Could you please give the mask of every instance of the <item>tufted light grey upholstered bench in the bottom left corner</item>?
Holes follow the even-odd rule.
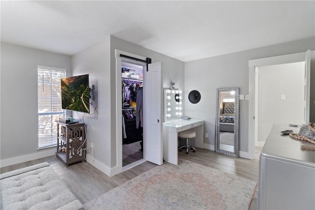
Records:
[[[47,162],[0,175],[1,210],[83,210]]]

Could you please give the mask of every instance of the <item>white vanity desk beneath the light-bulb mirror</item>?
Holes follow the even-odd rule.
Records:
[[[174,165],[178,164],[178,133],[184,130],[195,131],[194,147],[203,149],[203,124],[203,120],[199,119],[163,122],[163,158],[165,161]]]

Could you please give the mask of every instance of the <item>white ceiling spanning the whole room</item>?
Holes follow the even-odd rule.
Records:
[[[65,55],[108,34],[182,61],[315,37],[315,0],[1,0],[0,7],[1,41]]]

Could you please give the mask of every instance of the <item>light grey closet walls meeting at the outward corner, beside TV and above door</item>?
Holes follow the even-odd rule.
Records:
[[[149,57],[152,62],[163,65],[163,87],[169,88],[170,81],[184,90],[184,62],[146,48],[134,45],[114,36],[106,36],[91,47],[72,57],[73,75],[89,74],[91,85],[95,85],[97,113],[87,115],[87,142],[94,144],[95,160],[88,160],[107,175],[117,166],[116,139],[116,59],[115,49],[135,55]]]

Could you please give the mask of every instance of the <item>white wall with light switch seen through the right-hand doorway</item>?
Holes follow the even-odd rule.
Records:
[[[258,67],[258,141],[275,123],[304,123],[305,62]],[[281,100],[285,95],[285,100]]]

